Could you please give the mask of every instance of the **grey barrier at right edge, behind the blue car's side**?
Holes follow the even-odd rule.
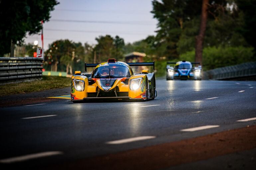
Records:
[[[211,80],[256,80],[256,62],[209,70],[203,76]]]

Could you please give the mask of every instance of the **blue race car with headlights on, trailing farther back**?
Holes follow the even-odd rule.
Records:
[[[201,69],[202,67],[199,65],[198,67],[192,67],[192,64],[200,64],[200,63],[191,63],[189,61],[179,61],[175,62],[167,62],[167,64],[175,64],[174,67],[167,65],[166,67],[166,80],[174,80],[174,79],[193,79],[193,80],[201,80]]]

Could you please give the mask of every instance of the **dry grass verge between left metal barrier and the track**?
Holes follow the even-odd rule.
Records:
[[[34,91],[65,88],[71,84],[71,78],[59,76],[42,76],[43,80],[23,82],[16,84],[0,85],[0,96],[10,94],[29,93]]]

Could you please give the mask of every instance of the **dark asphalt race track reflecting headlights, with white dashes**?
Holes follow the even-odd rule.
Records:
[[[60,99],[0,108],[0,167],[47,168],[256,125],[256,119],[238,121],[256,117],[256,82],[156,83],[158,96],[147,102],[72,103]],[[201,128],[191,129],[195,127]]]

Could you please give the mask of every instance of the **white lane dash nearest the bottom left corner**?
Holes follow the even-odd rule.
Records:
[[[23,156],[17,156],[7,159],[1,159],[0,163],[13,163],[13,162],[21,162],[29,159],[35,159],[45,156],[52,156],[52,155],[60,155],[63,154],[63,152],[60,151],[49,151],[49,152],[41,152],[41,153],[34,153],[34,154],[28,154]]]

